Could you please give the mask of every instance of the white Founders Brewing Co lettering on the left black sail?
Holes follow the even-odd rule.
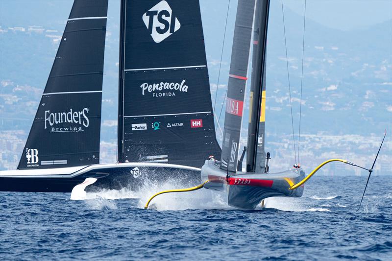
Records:
[[[87,114],[88,108],[81,111],[68,112],[50,112],[45,111],[45,129],[49,128],[50,132],[79,132],[83,131],[83,127],[90,124]],[[58,125],[60,124],[60,125]]]

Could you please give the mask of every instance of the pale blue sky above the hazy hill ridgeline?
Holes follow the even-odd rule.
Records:
[[[0,21],[18,20],[24,23],[27,19],[30,21],[33,19],[37,24],[43,24],[41,21],[62,13],[63,8],[68,13],[67,6],[70,2],[72,0],[0,0]],[[109,2],[112,2],[109,6],[119,5],[119,0],[109,0]],[[227,0],[200,0],[200,2],[201,6],[224,9]],[[236,4],[236,0],[231,2],[233,6]],[[304,2],[304,0],[283,0],[285,8],[299,15],[303,15]],[[271,0],[271,4],[280,4],[280,0]],[[392,0],[307,0],[306,15],[331,28],[360,29],[392,19]]]

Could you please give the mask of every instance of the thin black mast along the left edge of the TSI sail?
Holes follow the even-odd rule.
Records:
[[[119,51],[119,110],[117,120],[117,162],[123,158],[123,89],[124,89],[124,46],[125,46],[125,0],[120,5],[120,51]]]

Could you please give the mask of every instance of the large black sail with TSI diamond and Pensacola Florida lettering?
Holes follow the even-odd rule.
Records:
[[[122,17],[118,161],[220,157],[198,0],[124,0]]]

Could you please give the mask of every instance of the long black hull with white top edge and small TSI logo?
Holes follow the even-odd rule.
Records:
[[[71,192],[73,187],[84,182],[86,178],[98,180],[88,186],[86,192],[99,190],[121,190],[127,188],[138,190],[146,182],[159,184],[172,181],[176,184],[195,186],[200,184],[200,171],[178,167],[135,166],[95,168],[71,177],[4,177],[0,176],[0,191],[18,192]]]

